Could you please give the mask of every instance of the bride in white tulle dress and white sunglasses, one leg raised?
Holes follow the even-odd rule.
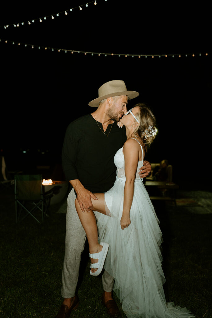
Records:
[[[95,194],[97,201],[92,199],[93,210],[102,213],[97,223],[100,244],[94,213],[82,212],[75,201],[88,238],[90,273],[96,276],[101,272],[109,243],[104,268],[115,278],[113,290],[127,317],[194,317],[186,308],[166,304],[162,287],[162,233],[138,174],[147,145],[155,136],[155,117],[149,108],[139,104],[120,121],[126,127],[127,141],[114,156],[117,179],[108,192]]]

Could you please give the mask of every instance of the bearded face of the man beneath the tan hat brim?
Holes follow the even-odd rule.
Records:
[[[121,95],[118,100],[113,101],[113,105],[107,110],[107,115],[118,122],[127,111],[127,95]]]

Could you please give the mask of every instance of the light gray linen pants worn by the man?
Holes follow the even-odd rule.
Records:
[[[74,297],[78,276],[81,253],[85,247],[86,234],[75,209],[76,195],[71,190],[67,199],[65,257],[62,272],[61,295],[63,298]],[[95,211],[98,219],[99,212]],[[113,290],[114,279],[106,271],[102,275],[102,285],[106,292]]]

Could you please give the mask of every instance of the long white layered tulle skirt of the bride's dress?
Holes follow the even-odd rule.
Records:
[[[141,180],[135,180],[131,224],[121,230],[125,180],[105,193],[110,215],[98,219],[99,241],[109,243],[104,268],[114,277],[114,292],[128,318],[194,317],[186,308],[166,303],[161,267],[162,233]]]

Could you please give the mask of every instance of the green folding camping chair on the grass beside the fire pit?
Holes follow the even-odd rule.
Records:
[[[23,210],[26,213],[20,222],[31,215],[40,223],[34,215],[36,211],[41,211],[43,222],[50,199],[51,194],[43,195],[42,175],[15,175],[16,223],[19,221]]]

